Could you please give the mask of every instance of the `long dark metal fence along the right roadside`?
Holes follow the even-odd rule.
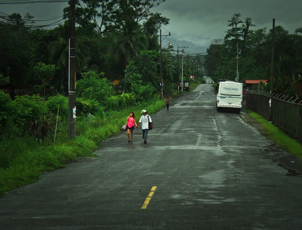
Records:
[[[246,94],[246,107],[270,119],[276,126],[302,140],[301,100],[273,94],[270,107],[270,92],[250,90]],[[271,114],[270,114],[271,112]]]

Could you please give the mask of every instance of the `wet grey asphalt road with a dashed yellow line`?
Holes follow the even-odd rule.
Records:
[[[151,114],[147,144],[141,129],[133,144],[122,132],[98,158],[6,193],[0,229],[300,230],[302,178],[244,115],[217,112],[211,84],[200,85]]]

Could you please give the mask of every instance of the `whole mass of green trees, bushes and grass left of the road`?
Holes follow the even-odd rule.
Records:
[[[150,12],[162,2],[76,2],[75,75],[69,73],[68,20],[43,30],[28,27],[34,23],[29,14],[0,19],[0,85],[35,88],[0,91],[0,193],[91,153],[120,131],[129,110],[153,113],[163,107],[161,80],[163,93],[175,95],[179,65],[172,48],[161,56],[157,35],[169,19]],[[69,9],[64,12],[68,18]],[[193,73],[193,65],[187,67],[186,74]],[[70,77],[76,78],[74,139],[67,130]],[[114,86],[114,80],[120,84]]]

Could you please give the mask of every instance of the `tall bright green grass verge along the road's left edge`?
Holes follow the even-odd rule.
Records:
[[[109,136],[120,132],[130,111],[139,119],[141,111],[149,114],[165,106],[164,100],[153,99],[120,111],[108,111],[95,117],[79,117],[76,137],[69,139],[66,125],[43,142],[33,136],[3,136],[0,141],[0,195],[18,186],[36,181],[44,171],[62,168],[75,158],[87,157]],[[66,123],[67,124],[67,123]]]

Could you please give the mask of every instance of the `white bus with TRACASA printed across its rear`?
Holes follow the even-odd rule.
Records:
[[[240,113],[243,101],[243,85],[235,81],[219,81],[217,85],[217,111],[233,109]]]

